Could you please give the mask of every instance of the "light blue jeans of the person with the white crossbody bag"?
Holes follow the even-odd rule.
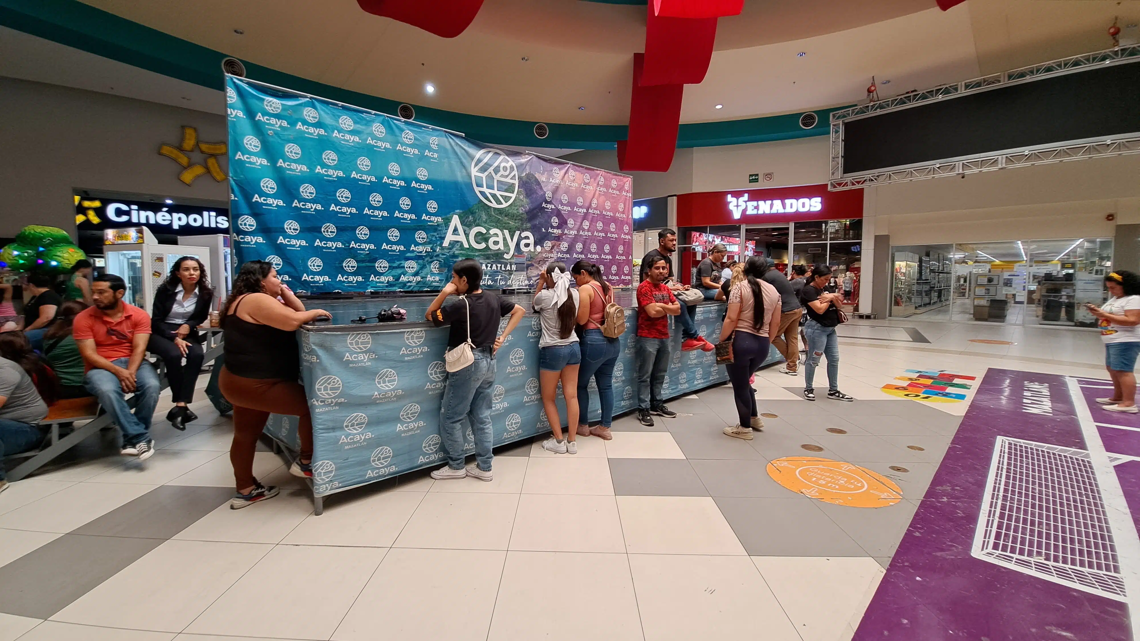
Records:
[[[491,348],[472,350],[475,362],[458,372],[447,373],[443,388],[443,407],[440,412],[439,436],[442,437],[447,466],[463,469],[463,420],[471,421],[471,433],[475,437],[475,462],[479,469],[491,469],[491,386],[495,384],[495,357]]]

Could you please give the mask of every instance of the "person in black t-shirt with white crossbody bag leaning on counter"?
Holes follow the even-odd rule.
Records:
[[[482,281],[483,268],[478,260],[465,258],[457,261],[451,267],[451,282],[435,297],[425,314],[437,326],[450,325],[448,356],[467,341],[471,342],[473,356],[472,363],[465,367],[454,372],[448,367],[439,424],[441,454],[447,459],[447,465],[431,473],[437,480],[465,477],[492,480],[491,444],[495,435],[491,430],[491,388],[495,386],[495,354],[503,347],[507,334],[522,320],[526,310],[494,292],[483,291],[480,287]],[[459,294],[462,298],[443,305],[451,294]],[[507,315],[511,319],[499,334],[499,318]],[[464,468],[466,419],[470,419],[475,438],[475,463]]]

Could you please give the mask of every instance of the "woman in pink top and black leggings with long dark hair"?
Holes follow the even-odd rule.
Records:
[[[768,356],[768,336],[780,327],[780,293],[760,279],[766,265],[762,255],[748,259],[746,278],[728,292],[728,310],[720,330],[720,341],[732,336],[733,362],[727,368],[740,417],[724,433],[744,440],[752,440],[752,430],[764,428],[756,411],[756,390],[748,381]]]

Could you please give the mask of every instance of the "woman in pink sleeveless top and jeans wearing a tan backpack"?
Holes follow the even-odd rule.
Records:
[[[618,339],[602,335],[602,316],[605,306],[613,302],[613,291],[602,279],[602,268],[588,260],[579,260],[570,268],[578,284],[578,325],[583,328],[581,365],[578,367],[578,436],[594,435],[610,440],[613,424],[613,365],[618,362]],[[597,382],[597,398],[602,405],[602,423],[589,427],[589,378]]]

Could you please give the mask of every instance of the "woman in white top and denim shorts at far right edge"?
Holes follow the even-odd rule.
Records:
[[[1105,276],[1112,298],[1104,306],[1085,303],[1098,319],[1100,340],[1105,341],[1105,366],[1113,378],[1113,396],[1097,403],[1109,412],[1135,414],[1137,378],[1133,374],[1140,354],[1140,276],[1132,271],[1113,271]]]

